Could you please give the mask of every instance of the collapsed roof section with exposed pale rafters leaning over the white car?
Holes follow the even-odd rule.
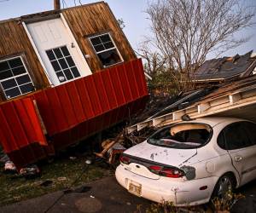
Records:
[[[181,104],[181,103],[180,103]],[[256,76],[241,78],[224,83],[212,93],[201,97],[181,110],[174,110],[158,117],[148,118],[143,122],[127,128],[130,134],[147,127],[160,127],[174,124],[186,118],[202,118],[207,116],[225,116],[245,118],[256,122]]]

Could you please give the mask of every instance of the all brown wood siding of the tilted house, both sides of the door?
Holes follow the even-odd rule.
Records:
[[[30,23],[31,21],[51,19],[55,18],[56,15],[60,17],[60,13],[63,14],[67,21],[67,25],[70,27],[71,32],[73,32],[73,36],[79,44],[82,53],[90,55],[90,58],[86,58],[86,60],[92,72],[103,69],[102,63],[98,59],[89,40],[89,37],[93,35],[109,32],[124,61],[137,58],[125,34],[119,27],[118,21],[113,16],[111,9],[109,9],[108,3],[90,3],[79,7],[28,14],[21,16],[19,19],[1,21],[0,60],[21,55],[37,90],[44,89],[50,85],[44,68],[41,66],[21,22]],[[5,97],[2,89],[0,89],[0,103],[3,101],[5,101]]]

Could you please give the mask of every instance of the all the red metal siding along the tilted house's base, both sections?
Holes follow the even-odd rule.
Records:
[[[34,145],[35,141],[39,145],[47,145],[47,141],[42,135],[32,100],[36,100],[49,138],[57,150],[128,118],[145,107],[147,97],[142,60],[131,60],[73,82],[44,89],[29,98],[0,105],[0,142],[4,151],[10,153],[15,164],[20,166],[23,163],[17,162],[17,158],[21,158],[17,156],[28,154],[21,147],[29,147],[28,150],[34,152],[29,159],[22,161],[26,164],[49,153],[44,147]]]

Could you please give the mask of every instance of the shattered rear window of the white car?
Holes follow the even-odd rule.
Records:
[[[201,147],[210,140],[212,128],[207,124],[175,124],[158,130],[148,143],[177,149]]]

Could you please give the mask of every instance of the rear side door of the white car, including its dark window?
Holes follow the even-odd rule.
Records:
[[[256,145],[252,134],[256,132],[255,124],[236,122],[224,129],[225,147],[227,148],[233,166],[240,174],[241,184],[252,181],[256,177]]]

